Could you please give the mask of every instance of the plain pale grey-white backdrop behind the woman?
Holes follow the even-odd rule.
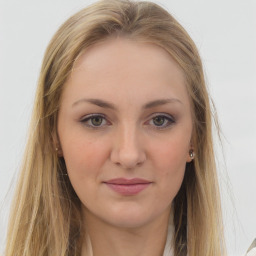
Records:
[[[70,15],[94,1],[0,0],[0,246],[26,142],[45,48]],[[256,1],[159,0],[197,44],[218,111],[216,145],[230,256],[256,238]]]

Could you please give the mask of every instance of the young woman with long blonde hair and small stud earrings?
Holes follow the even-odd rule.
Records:
[[[6,255],[225,255],[211,119],[168,12],[75,14],[45,53]]]

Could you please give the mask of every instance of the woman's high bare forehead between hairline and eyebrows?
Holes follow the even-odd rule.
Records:
[[[66,92],[65,92],[66,91]],[[163,48],[127,38],[109,38],[76,61],[64,94],[129,99],[171,96],[188,101],[184,74]]]

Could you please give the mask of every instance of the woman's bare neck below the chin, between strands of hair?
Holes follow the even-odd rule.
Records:
[[[162,256],[169,216],[168,209],[157,220],[141,227],[120,228],[103,222],[85,211],[88,235],[84,241],[82,256]]]

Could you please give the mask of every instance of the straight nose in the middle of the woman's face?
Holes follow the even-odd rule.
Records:
[[[136,128],[124,127],[113,139],[111,161],[124,169],[133,169],[146,160],[146,152]]]

